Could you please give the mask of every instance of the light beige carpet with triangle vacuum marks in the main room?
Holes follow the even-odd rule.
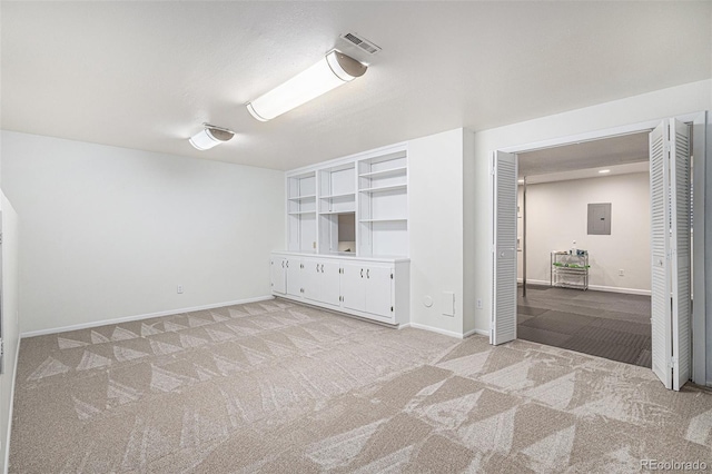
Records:
[[[13,473],[526,473],[712,461],[712,394],[270,300],[23,339]]]

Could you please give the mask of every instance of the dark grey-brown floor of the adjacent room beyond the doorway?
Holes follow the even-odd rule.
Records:
[[[650,296],[527,285],[517,337],[652,367]]]

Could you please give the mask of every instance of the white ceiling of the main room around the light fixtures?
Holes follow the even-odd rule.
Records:
[[[9,2],[1,127],[290,169],[708,79],[712,2]],[[270,122],[243,106],[355,31],[363,78]],[[360,58],[364,59],[364,58]],[[233,141],[194,150],[209,121]]]

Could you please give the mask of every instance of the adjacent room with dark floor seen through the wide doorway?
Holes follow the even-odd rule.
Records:
[[[517,337],[651,367],[647,136],[518,155]]]

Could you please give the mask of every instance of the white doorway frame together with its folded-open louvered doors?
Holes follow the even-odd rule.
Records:
[[[686,124],[692,124],[693,127]],[[689,225],[690,165],[694,160],[700,166],[699,169],[704,168],[706,124],[708,113],[700,112],[662,122],[653,120],[536,145],[511,147],[493,154],[492,344],[516,338],[516,154],[654,128],[650,154],[653,372],[668,388],[680,389],[690,378],[704,383],[704,304],[698,305],[694,312],[691,310],[693,289],[701,299],[704,297],[704,269],[699,268],[700,266],[694,268],[693,287],[690,278],[693,271],[689,264],[685,267],[685,261],[690,261],[690,254],[686,251],[692,246],[691,229],[685,228],[684,216],[688,213]],[[690,140],[683,132],[693,129],[698,134]],[[688,148],[683,149],[683,146]],[[704,215],[704,203],[695,201],[695,213]],[[700,223],[695,223],[695,226],[699,226],[699,233],[703,231]],[[695,240],[694,249],[698,255],[704,255],[703,239]]]

